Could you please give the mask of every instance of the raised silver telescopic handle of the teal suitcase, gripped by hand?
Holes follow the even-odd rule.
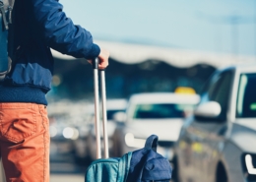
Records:
[[[100,148],[100,122],[99,122],[99,96],[98,96],[98,71],[100,73],[100,92],[102,106],[102,127],[104,141],[104,157],[108,158],[108,137],[107,137],[107,117],[106,117],[106,93],[105,93],[105,72],[98,69],[99,60],[93,60],[94,80],[95,80],[95,129],[96,129],[96,158],[101,158]]]

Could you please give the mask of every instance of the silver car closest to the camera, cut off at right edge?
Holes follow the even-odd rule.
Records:
[[[174,145],[173,180],[256,181],[256,64],[217,70]]]

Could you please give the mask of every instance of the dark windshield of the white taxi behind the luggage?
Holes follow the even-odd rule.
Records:
[[[184,110],[193,108],[188,104],[138,104],[135,107],[134,119],[183,118]]]

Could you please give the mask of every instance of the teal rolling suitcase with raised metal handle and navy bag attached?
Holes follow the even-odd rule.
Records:
[[[98,70],[98,59],[93,61],[95,84],[95,129],[96,129],[96,160],[87,169],[86,182],[169,182],[171,166],[169,161],[157,152],[159,137],[151,135],[145,147],[134,152],[127,152],[121,157],[109,157],[106,94],[104,70]],[[100,75],[100,91],[102,104],[102,127],[104,158],[101,158],[99,133],[99,99],[98,72]]]

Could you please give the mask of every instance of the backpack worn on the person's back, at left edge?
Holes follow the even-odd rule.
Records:
[[[0,0],[0,81],[11,71],[12,14],[15,0]]]

